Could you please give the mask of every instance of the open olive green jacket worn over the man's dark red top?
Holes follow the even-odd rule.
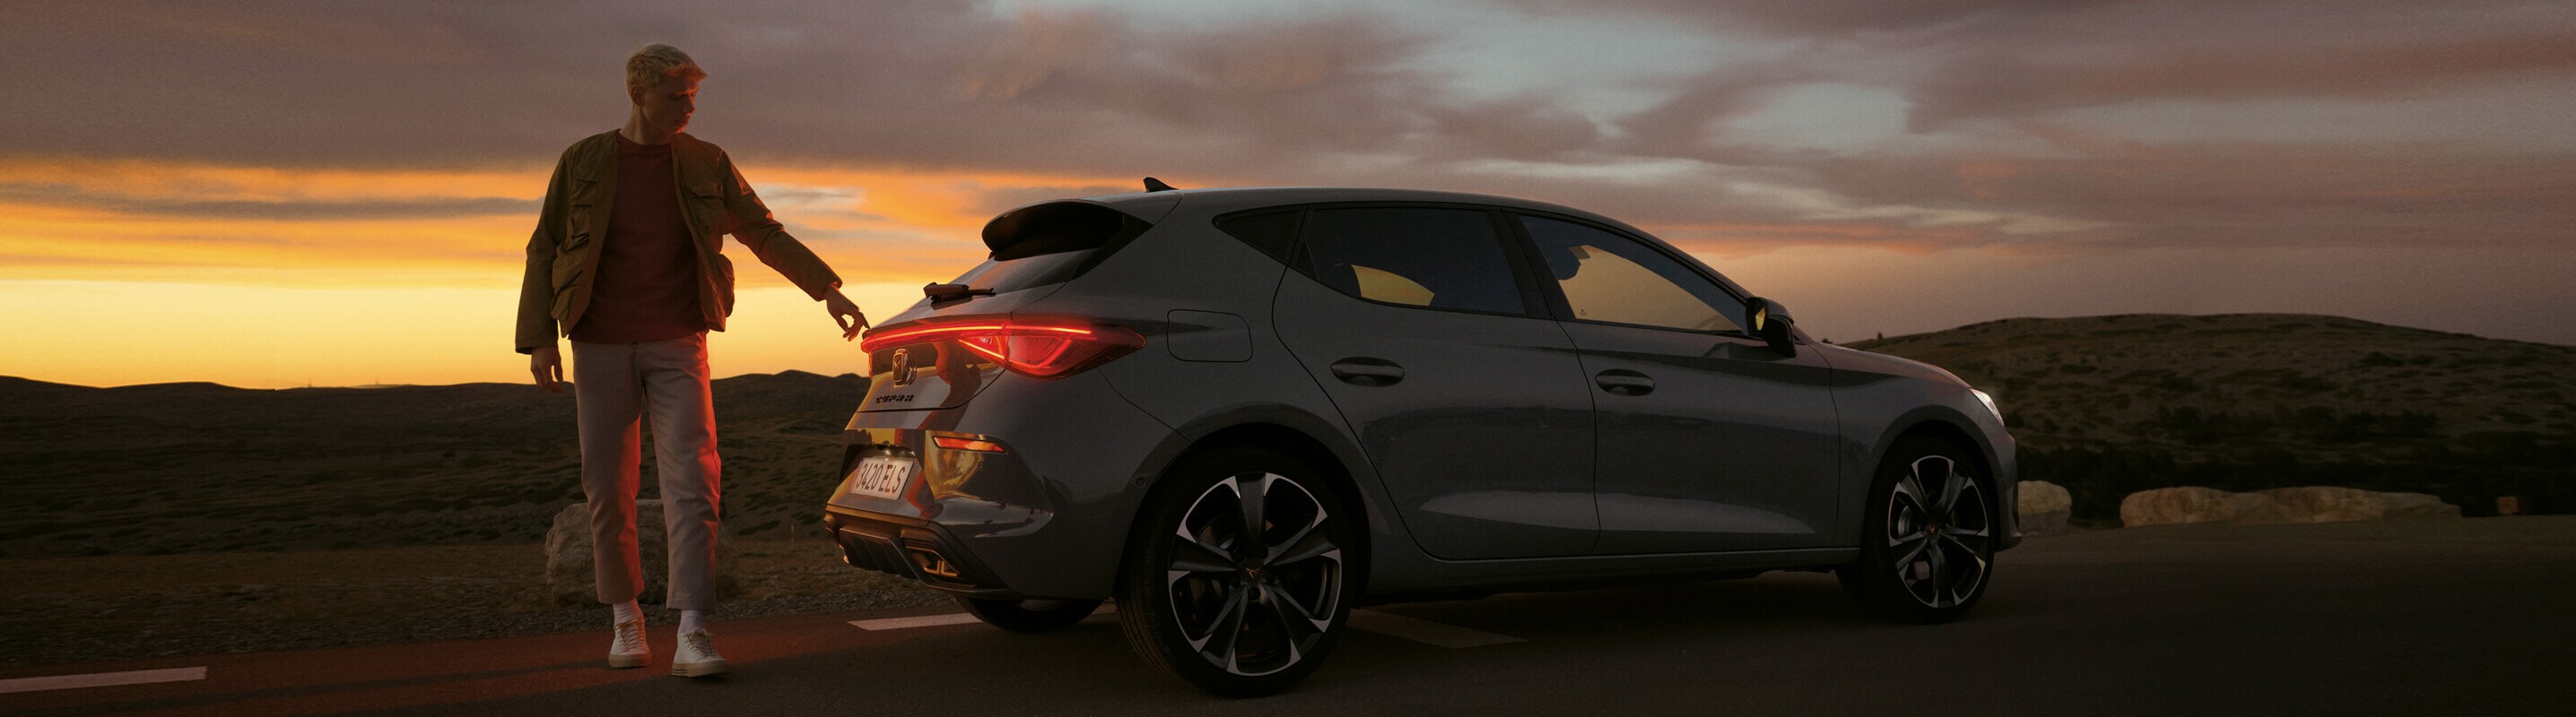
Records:
[[[724,149],[680,134],[670,141],[672,182],[680,188],[680,216],[698,252],[698,308],[706,329],[724,332],[734,314],[734,262],[724,257],[724,234],[734,234],[762,265],[770,265],[806,296],[822,301],[840,285],[822,257],[770,218],[752,185],[734,170]],[[592,270],[608,234],[608,211],[618,193],[618,134],[605,131],[574,141],[554,162],[546,203],[528,236],[528,275],[518,285],[518,352],[551,347],[569,334],[590,308]]]

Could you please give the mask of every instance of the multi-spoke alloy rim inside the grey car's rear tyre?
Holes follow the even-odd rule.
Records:
[[[1278,473],[1242,473],[1182,511],[1164,591],[1180,637],[1236,676],[1285,671],[1332,630],[1342,596],[1342,545],[1332,511]]]

